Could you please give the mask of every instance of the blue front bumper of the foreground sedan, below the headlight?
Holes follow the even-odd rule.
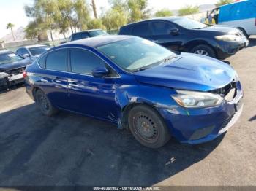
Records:
[[[159,109],[170,133],[181,143],[201,144],[216,139],[231,128],[243,111],[243,91],[240,89],[232,101],[204,109],[177,106]]]

